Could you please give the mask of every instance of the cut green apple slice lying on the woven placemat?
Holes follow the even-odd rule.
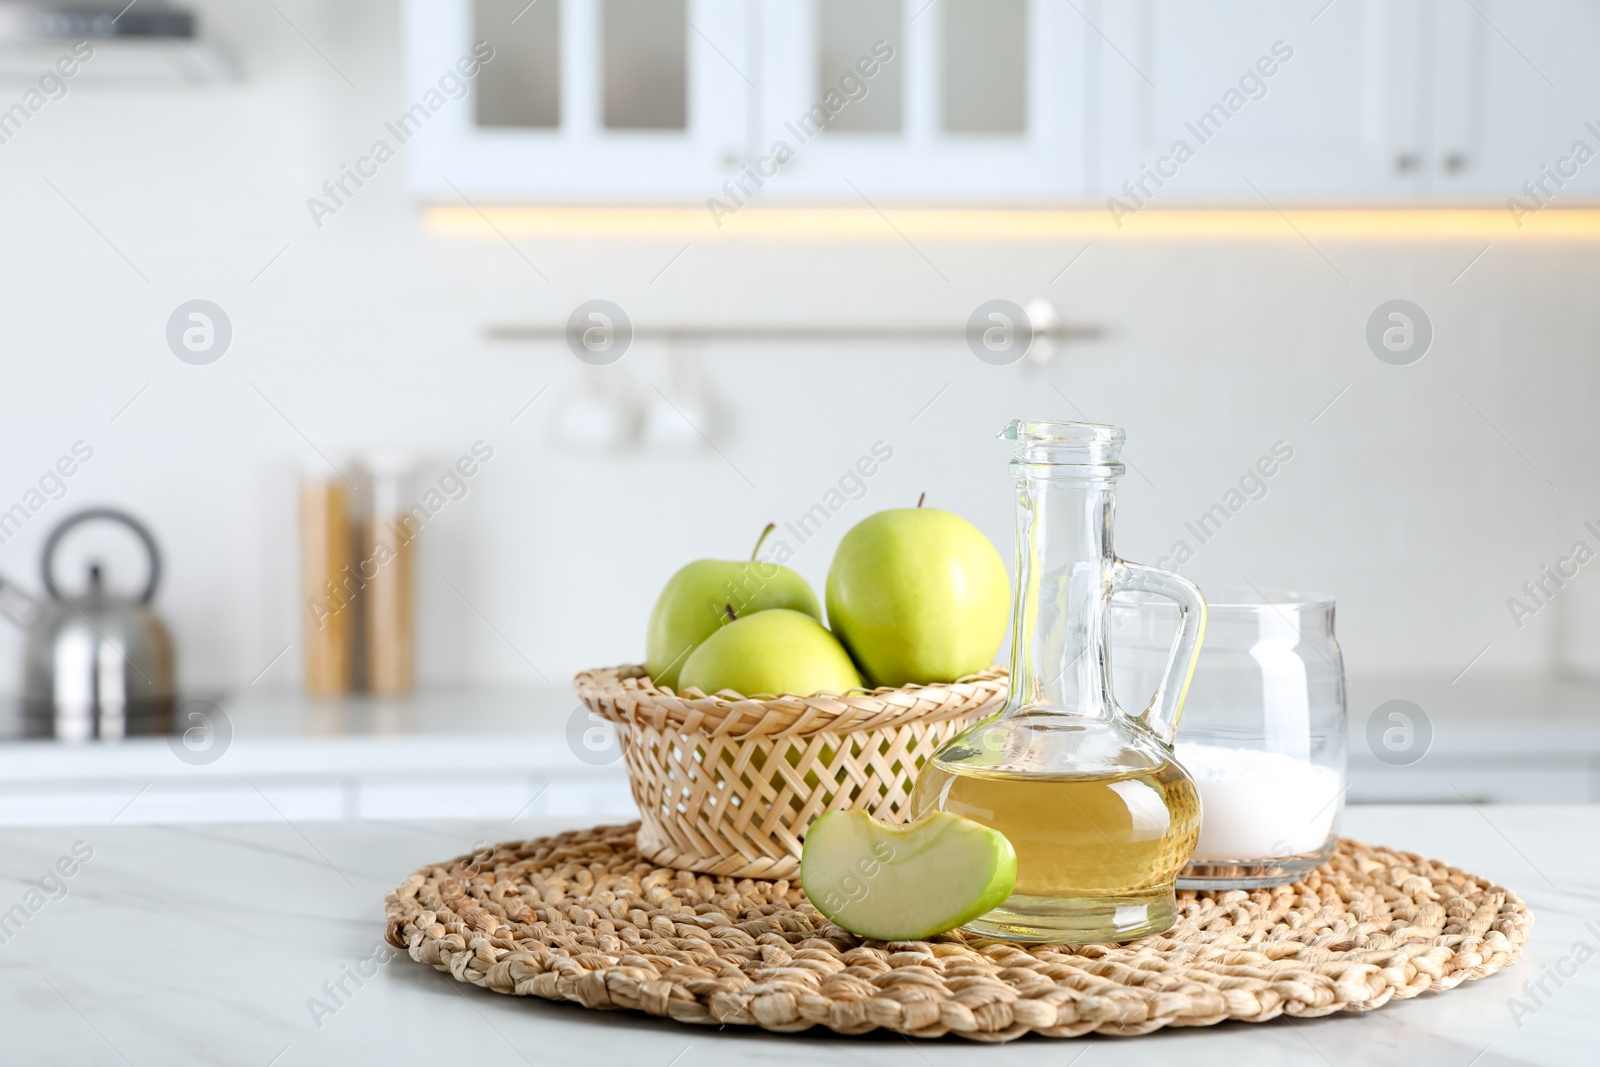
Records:
[[[806,830],[800,885],[853,934],[920,941],[1011,896],[1016,851],[1000,830],[944,811],[907,825],[830,811]]]

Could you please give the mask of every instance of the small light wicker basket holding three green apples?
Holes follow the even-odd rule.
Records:
[[[643,667],[586,670],[573,686],[618,725],[640,854],[709,875],[790,878],[800,837],[824,811],[906,821],[917,771],[1000,709],[1006,672],[773,701],[658,689]]]

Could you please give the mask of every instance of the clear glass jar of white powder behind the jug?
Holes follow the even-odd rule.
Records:
[[[1178,888],[1294,881],[1333,856],[1344,806],[1344,659],[1333,598],[1218,589],[1206,606],[1176,744],[1200,790],[1200,841]],[[1163,598],[1114,598],[1118,693],[1144,693],[1162,677],[1176,625]]]

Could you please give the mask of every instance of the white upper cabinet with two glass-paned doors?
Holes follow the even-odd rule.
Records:
[[[470,98],[405,142],[434,200],[666,197],[720,219],[1086,190],[1094,50],[1054,0],[411,0],[410,96],[438,102],[478,42]]]

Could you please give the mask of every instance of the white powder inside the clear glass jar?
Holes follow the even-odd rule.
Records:
[[[1280,752],[1178,742],[1200,790],[1194,862],[1298,856],[1322,848],[1338,814],[1339,773]]]

